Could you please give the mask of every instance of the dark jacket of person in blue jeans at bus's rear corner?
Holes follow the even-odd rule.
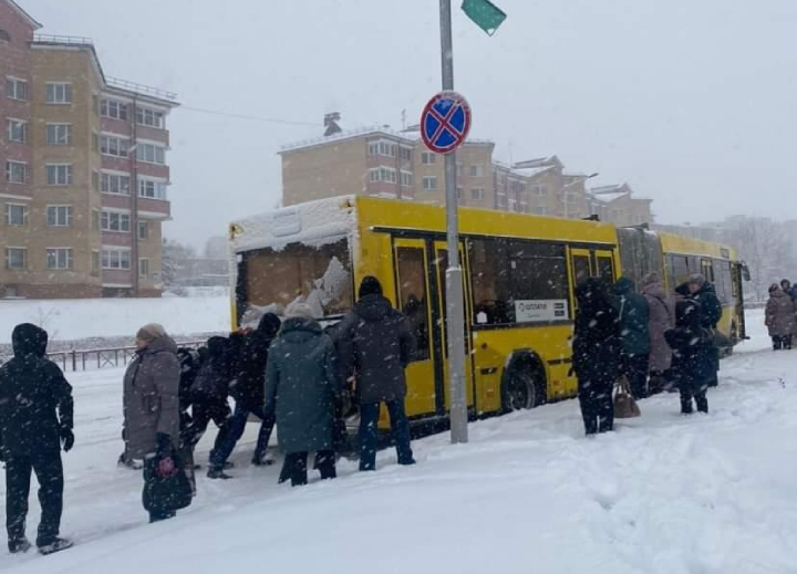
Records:
[[[358,301],[338,331],[345,373],[356,375],[361,404],[406,396],[404,369],[415,348],[410,322],[380,294]]]

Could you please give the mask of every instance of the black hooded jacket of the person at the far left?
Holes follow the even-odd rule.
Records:
[[[30,456],[61,450],[61,429],[72,429],[72,387],[46,358],[48,334],[29,323],[12,333],[14,356],[0,367],[3,453]]]

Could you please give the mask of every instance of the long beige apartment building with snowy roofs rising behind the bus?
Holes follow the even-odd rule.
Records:
[[[617,197],[593,196],[586,187],[590,176],[566,170],[557,156],[508,165],[495,160],[494,150],[493,142],[469,140],[457,152],[459,205],[571,219],[598,215],[619,225],[651,221],[650,200],[617,186],[610,186]],[[443,157],[426,149],[416,128],[338,132],[284,146],[280,156],[286,206],[349,194],[445,202]]]

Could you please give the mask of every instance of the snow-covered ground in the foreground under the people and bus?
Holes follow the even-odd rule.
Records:
[[[723,362],[708,416],[682,417],[677,395],[659,396],[590,440],[569,400],[473,424],[465,446],[420,440],[415,467],[385,451],[375,473],[342,462],[339,480],[303,489],[248,466],[250,425],[237,478],[201,477],[194,505],[156,525],[138,473],[115,467],[122,373],[81,374],[62,529],[77,545],[0,554],[0,570],[795,573],[797,351],[769,351],[760,320],[751,313],[754,340]],[[34,495],[31,507],[33,535]]]

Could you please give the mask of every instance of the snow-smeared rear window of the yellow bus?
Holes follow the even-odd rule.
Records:
[[[257,324],[266,312],[282,315],[293,302],[310,305],[318,319],[344,314],[353,305],[346,239],[319,247],[291,243],[279,250],[247,251],[238,270],[244,326]]]

